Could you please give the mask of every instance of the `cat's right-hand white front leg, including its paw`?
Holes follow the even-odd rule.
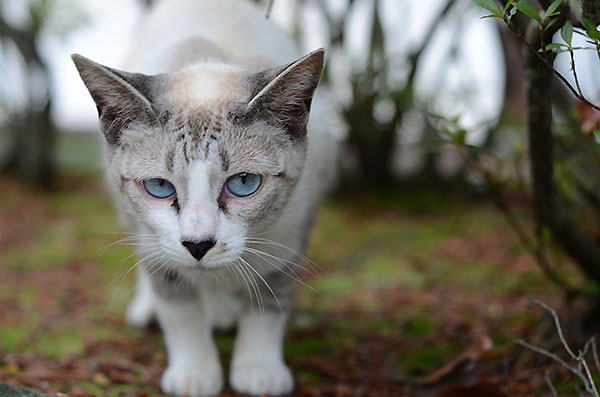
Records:
[[[287,315],[280,311],[249,311],[238,324],[230,383],[251,395],[281,395],[292,391],[294,380],[283,361]]]

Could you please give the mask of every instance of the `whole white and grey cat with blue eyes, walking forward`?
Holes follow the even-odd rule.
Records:
[[[231,387],[293,390],[286,321],[338,141],[315,95],[324,50],[298,55],[250,2],[166,0],[141,25],[135,73],[72,56],[98,109],[109,189],[136,233],[126,320],[158,320],[166,393],[222,390],[211,333],[232,325]]]

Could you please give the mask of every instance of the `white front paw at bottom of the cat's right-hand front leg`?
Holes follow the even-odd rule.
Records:
[[[292,373],[283,363],[257,361],[234,365],[230,382],[237,392],[251,395],[278,396],[290,393],[294,388]]]

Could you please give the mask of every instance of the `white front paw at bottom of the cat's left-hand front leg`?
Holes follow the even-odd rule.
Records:
[[[223,388],[223,374],[220,366],[169,366],[162,376],[160,386],[165,393],[175,396],[216,396]]]

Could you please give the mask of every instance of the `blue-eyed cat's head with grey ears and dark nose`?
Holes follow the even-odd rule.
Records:
[[[219,267],[281,216],[302,174],[323,58],[146,76],[73,56],[98,108],[109,179],[159,256]]]

